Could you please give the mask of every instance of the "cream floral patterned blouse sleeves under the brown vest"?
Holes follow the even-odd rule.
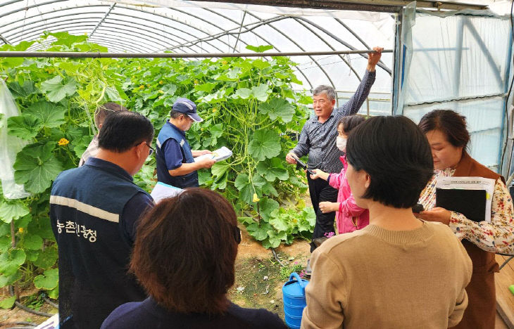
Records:
[[[425,209],[435,207],[435,185],[438,177],[453,176],[455,169],[434,170],[434,176],[421,192],[420,203]],[[491,223],[472,221],[463,214],[451,212],[450,228],[459,239],[467,239],[488,252],[514,254],[514,207],[508,189],[498,179],[494,184]]]

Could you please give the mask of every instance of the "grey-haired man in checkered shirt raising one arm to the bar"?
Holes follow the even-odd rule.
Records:
[[[377,53],[368,53],[368,66],[357,91],[348,102],[339,108],[334,108],[336,93],[332,86],[318,86],[313,91],[314,117],[311,117],[301,129],[296,147],[286,155],[286,161],[296,164],[294,157],[308,155],[308,168],[321,169],[323,172],[341,172],[343,164],[339,160],[342,155],[336,146],[337,124],[342,117],[354,115],[370,93],[375,82],[375,66],[382,56],[382,48],[375,47]],[[325,233],[334,233],[335,212],[323,213],[320,202],[337,202],[337,190],[324,179],[311,179],[307,174],[309,194],[316,214],[313,239],[322,238]],[[316,246],[311,243],[311,252]],[[307,272],[310,266],[307,265]]]

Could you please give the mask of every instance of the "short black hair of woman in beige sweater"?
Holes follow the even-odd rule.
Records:
[[[370,175],[362,198],[410,208],[434,172],[425,134],[407,117],[372,117],[349,134],[346,160]]]

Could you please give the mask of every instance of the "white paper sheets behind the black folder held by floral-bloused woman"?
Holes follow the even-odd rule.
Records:
[[[484,177],[438,177],[435,187],[455,190],[484,190],[486,193],[485,220],[490,223],[495,183],[494,179]]]

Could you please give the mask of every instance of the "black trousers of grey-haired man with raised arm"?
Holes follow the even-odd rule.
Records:
[[[325,179],[311,179],[307,174],[307,181],[309,185],[309,193],[311,194],[311,201],[313,202],[314,212],[316,214],[316,224],[314,226],[313,239],[325,236],[325,233],[334,231],[335,212],[327,212],[323,214],[320,210],[320,202],[330,201],[337,202],[337,189],[328,184]],[[316,249],[316,246],[311,242],[311,252]]]

